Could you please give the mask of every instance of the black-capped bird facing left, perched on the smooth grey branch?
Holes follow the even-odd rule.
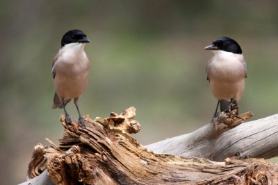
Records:
[[[219,105],[220,112],[231,112],[231,108],[238,106],[245,91],[247,64],[240,45],[230,37],[219,37],[204,49],[214,53],[206,66],[206,76],[213,96],[218,99],[215,118]]]

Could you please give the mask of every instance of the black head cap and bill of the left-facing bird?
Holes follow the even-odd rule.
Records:
[[[206,46],[204,49],[206,50],[222,50],[236,54],[242,54],[243,51],[241,50],[238,42],[234,39],[229,37],[220,37],[213,42],[213,44]]]

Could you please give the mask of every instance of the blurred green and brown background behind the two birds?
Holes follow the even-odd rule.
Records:
[[[63,134],[51,62],[72,28],[92,41],[83,115],[108,116],[131,105],[142,144],[191,132],[211,121],[216,100],[204,51],[220,36],[238,41],[248,64],[240,112],[277,113],[278,1],[1,1],[1,183],[24,182],[33,146]],[[67,106],[77,118],[74,105]],[[3,166],[5,168],[3,168]]]

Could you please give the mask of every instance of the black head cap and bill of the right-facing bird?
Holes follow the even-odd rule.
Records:
[[[87,35],[82,30],[69,30],[65,35],[63,35],[61,45],[62,47],[65,46],[65,44],[70,43],[88,43],[90,40],[87,38]]]

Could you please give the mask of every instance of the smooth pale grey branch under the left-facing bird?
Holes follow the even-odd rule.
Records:
[[[223,161],[227,157],[269,159],[278,156],[278,114],[240,125],[238,123],[242,121],[236,118],[239,121],[236,127],[235,122],[224,121],[223,116],[226,114],[195,132],[165,139],[147,148],[159,153],[204,157],[213,161]],[[250,116],[252,113],[247,112],[239,117],[246,119]]]

